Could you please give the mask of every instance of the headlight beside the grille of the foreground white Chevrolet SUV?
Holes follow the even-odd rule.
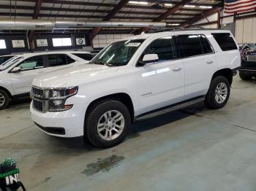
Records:
[[[78,93],[78,87],[53,88],[49,90],[49,112],[60,112],[72,108],[65,105],[67,98]]]

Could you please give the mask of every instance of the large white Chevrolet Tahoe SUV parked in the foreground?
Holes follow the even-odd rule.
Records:
[[[137,120],[200,101],[213,109],[225,106],[240,65],[230,31],[131,36],[90,63],[34,79],[31,117],[51,136],[84,136],[96,147],[113,147]]]

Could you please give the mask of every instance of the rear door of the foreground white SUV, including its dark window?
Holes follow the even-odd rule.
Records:
[[[214,50],[203,34],[177,36],[185,69],[185,100],[206,95],[217,70]]]

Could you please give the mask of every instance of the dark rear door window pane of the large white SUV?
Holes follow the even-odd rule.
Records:
[[[177,38],[183,50],[183,57],[203,54],[203,49],[200,44],[200,35],[197,35],[197,34],[178,35]]]

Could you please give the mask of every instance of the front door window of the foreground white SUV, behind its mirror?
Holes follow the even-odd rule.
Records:
[[[178,58],[172,36],[156,39],[146,48],[143,55],[157,54],[159,61],[169,61]],[[143,58],[143,55],[141,59]]]

